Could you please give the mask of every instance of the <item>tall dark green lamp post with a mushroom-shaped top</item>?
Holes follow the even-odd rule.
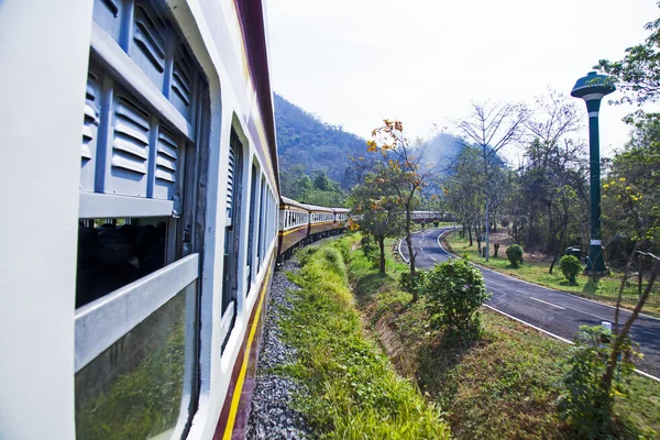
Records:
[[[601,242],[601,144],[598,138],[598,111],[601,100],[609,95],[615,87],[607,81],[607,76],[590,72],[578,79],[571,96],[582,98],[588,112],[588,163],[591,184],[591,243],[586,274],[602,275],[605,273],[603,244]]]

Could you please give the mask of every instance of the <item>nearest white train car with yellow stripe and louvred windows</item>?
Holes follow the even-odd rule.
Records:
[[[0,437],[241,437],[277,250],[260,0],[0,2]]]

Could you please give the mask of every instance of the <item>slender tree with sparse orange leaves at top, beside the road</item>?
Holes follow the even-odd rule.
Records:
[[[419,144],[411,145],[404,135],[404,124],[397,120],[383,120],[383,125],[372,131],[372,139],[367,141],[367,152],[374,162],[356,161],[355,163],[371,163],[372,173],[383,183],[387,184],[397,196],[397,202],[402,206],[404,219],[404,232],[406,246],[410,256],[410,277],[415,279],[415,252],[413,250],[411,212],[419,204],[419,193],[427,185],[432,169],[422,172],[424,147]],[[417,301],[419,293],[413,290],[413,301]]]

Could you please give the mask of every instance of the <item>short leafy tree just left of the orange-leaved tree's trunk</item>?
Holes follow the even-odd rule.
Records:
[[[380,271],[385,274],[385,238],[403,231],[403,211],[398,195],[382,177],[369,174],[364,183],[353,187],[349,198],[351,211],[361,215],[358,227],[371,233],[380,248]]]

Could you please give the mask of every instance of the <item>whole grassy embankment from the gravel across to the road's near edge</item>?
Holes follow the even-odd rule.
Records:
[[[348,279],[362,312],[363,326],[378,338],[399,374],[413,380],[427,402],[447,413],[452,437],[570,438],[559,421],[556,407],[562,393],[561,360],[566,356],[566,344],[488,310],[483,310],[484,334],[479,342],[463,346],[447,344],[442,334],[426,324],[424,298],[411,305],[410,296],[398,288],[398,274],[407,266],[388,255],[387,275],[381,275],[360,250],[353,249],[358,242],[355,238],[341,240],[339,248],[343,250],[344,258],[348,256]],[[349,248],[351,243],[353,245]],[[373,345],[362,339],[364,331],[360,330],[360,319],[352,309],[345,272],[340,263],[333,261],[336,256],[329,256],[336,253],[324,256],[328,252],[326,246],[311,256],[302,257],[304,261],[309,260],[298,277],[305,288],[297,296],[296,309],[302,309],[295,312],[298,318],[287,323],[287,336],[304,353],[306,361],[293,366],[289,373],[302,380],[312,391],[302,407],[314,420],[326,427],[339,424],[341,430],[330,431],[332,437],[355,438],[360,430],[365,429],[365,419],[378,425],[378,417],[382,417],[382,409],[370,413],[378,416],[358,416],[359,408],[364,405],[358,391],[372,396],[366,402],[380,402],[377,396],[382,389],[381,385],[374,388],[372,365],[378,365],[375,371],[387,369],[381,366],[386,362],[373,354]],[[326,277],[329,279],[322,280]],[[334,287],[329,289],[330,285]],[[330,290],[341,294],[327,295]],[[350,318],[344,320],[344,314]],[[349,321],[350,331],[346,332],[346,324],[340,322]],[[370,349],[365,352],[356,346]],[[369,361],[362,360],[364,353],[369,353]],[[358,363],[352,361],[355,359]],[[350,365],[348,360],[351,360]],[[391,372],[385,376],[387,381],[400,383],[389,378],[394,377]],[[413,400],[418,402],[417,395],[409,391],[411,387],[405,382],[403,384],[406,384],[405,394],[415,396]],[[377,391],[374,393],[374,389]],[[407,407],[409,404],[399,405]],[[389,404],[384,407],[388,408],[385,413],[389,416],[380,435],[397,437],[385,436],[385,432],[392,432],[391,424],[395,428],[400,425],[402,421],[395,422],[396,419],[389,418],[396,417],[400,409]],[[617,397],[615,411],[620,438],[658,438],[660,385],[634,377],[630,397]],[[431,413],[421,411],[424,417],[431,417]],[[407,411],[404,418],[409,415]],[[430,421],[425,422],[425,426],[430,426],[427,424]],[[380,438],[373,430],[364,432],[359,437]],[[425,437],[424,430],[417,432]]]

